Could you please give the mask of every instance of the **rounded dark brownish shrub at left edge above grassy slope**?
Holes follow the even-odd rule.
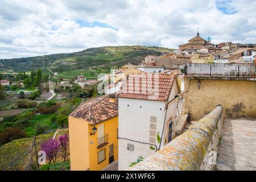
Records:
[[[14,139],[24,138],[26,133],[19,127],[9,127],[0,134],[0,144],[11,142]]]

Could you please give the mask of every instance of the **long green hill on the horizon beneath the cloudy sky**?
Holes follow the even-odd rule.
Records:
[[[126,63],[138,64],[148,55],[162,55],[174,49],[146,46],[107,46],[85,49],[81,52],[59,53],[46,56],[1,59],[0,71],[64,72],[92,67],[109,67]]]

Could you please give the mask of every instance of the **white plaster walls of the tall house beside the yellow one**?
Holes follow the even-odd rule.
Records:
[[[177,88],[175,88],[176,82],[172,88],[169,101],[171,101],[177,94]],[[127,106],[129,105],[129,106]],[[141,107],[142,108],[141,108]],[[129,168],[132,162],[135,162],[139,156],[148,158],[148,156],[155,153],[155,150],[150,149],[150,144],[143,144],[132,142],[130,140],[136,140],[138,142],[149,143],[150,140],[150,116],[156,117],[156,135],[159,132],[161,137],[163,131],[164,117],[166,114],[166,102],[160,101],[148,101],[148,100],[136,100],[129,98],[118,99],[118,169],[125,170]],[[160,110],[162,109],[162,110]],[[170,102],[167,114],[166,123],[164,125],[164,135],[161,144],[161,148],[166,144],[164,138],[167,137],[168,141],[168,119],[175,119],[176,116],[176,100]],[[172,128],[174,130],[174,127]],[[172,132],[174,134],[174,131]],[[126,138],[126,139],[120,139]],[[156,137],[157,138],[157,137]],[[127,143],[134,144],[134,151],[127,150]],[[156,139],[157,147],[159,143]]]

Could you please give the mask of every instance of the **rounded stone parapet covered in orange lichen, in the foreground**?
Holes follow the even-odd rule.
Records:
[[[222,132],[222,110],[222,106],[216,106],[216,109],[191,125],[185,133],[176,137],[162,150],[129,170],[214,170],[216,164],[212,163],[211,155],[215,154],[217,157]]]

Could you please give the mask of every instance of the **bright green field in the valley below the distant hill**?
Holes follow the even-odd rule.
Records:
[[[77,75],[83,75],[86,77],[86,80],[92,80],[92,79],[97,79],[97,76],[100,73],[110,73],[110,70],[103,69],[103,68],[80,69],[80,70],[75,70],[75,71],[63,72],[63,73],[60,73],[59,75],[56,75],[55,77],[72,80],[72,78],[74,78]]]

